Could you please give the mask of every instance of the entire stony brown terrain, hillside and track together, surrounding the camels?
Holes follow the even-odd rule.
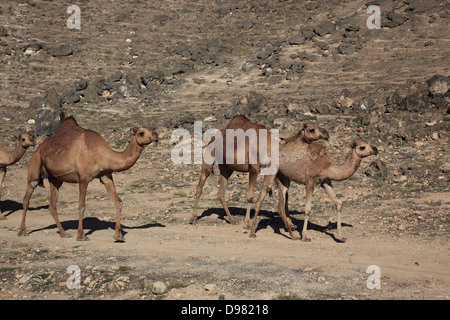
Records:
[[[380,2],[383,12],[395,10],[406,22],[371,33],[364,1],[306,7],[310,2],[136,0],[119,7],[92,0],[81,1],[82,27],[76,31],[65,24],[72,3],[1,1],[0,27],[7,35],[0,33],[0,142],[8,150],[15,146],[13,135],[35,130],[29,120],[38,120],[38,111],[30,101],[50,88],[63,98],[81,96],[77,102],[63,99],[61,110],[98,131],[115,150],[125,148],[136,124],[155,127],[161,138],[132,168],[114,175],[124,200],[124,243],[112,238],[113,201],[97,180],[86,199],[90,241],[76,241],[78,187],[69,184],[61,188],[58,211],[72,237],[59,237],[48,211],[47,181],[31,199],[29,235],[18,237],[36,147],[8,168],[0,200],[6,217],[0,220],[0,299],[449,299],[448,92],[423,110],[385,111],[386,97],[395,91],[404,97],[415,85],[422,94],[436,73],[448,77],[449,7],[445,1]],[[325,20],[339,28],[290,44],[299,28]],[[248,21],[254,24],[244,26]],[[338,46],[349,38],[356,51],[342,53]],[[55,57],[52,46],[62,40],[73,53]],[[41,49],[26,55],[30,43]],[[267,44],[270,57],[255,58]],[[299,71],[292,64],[301,68],[301,52],[307,59]],[[243,71],[248,61],[257,67]],[[118,71],[143,76],[156,69],[164,82],[141,83],[136,96],[103,81]],[[80,79],[88,82],[84,91],[74,90]],[[94,96],[87,92],[93,84],[100,88]],[[342,102],[344,91],[355,103],[337,108],[334,102]],[[247,174],[234,173],[227,188],[239,220],[231,225],[216,196],[217,167],[204,187],[198,222],[189,224],[201,165],[172,163],[171,134],[176,128],[192,133],[194,120],[202,120],[204,130],[223,127],[229,121],[224,113],[251,105],[249,92],[264,96],[251,120],[279,128],[283,136],[296,133],[304,121],[316,122],[329,130],[326,144],[337,162],[355,139],[380,151],[364,159],[350,179],[334,183],[344,201],[345,243],[335,241],[335,223],[326,227],[330,218],[336,221],[336,210],[320,188],[309,220],[311,242],[289,238],[276,212],[276,188],[263,203],[257,237],[249,238],[243,228]],[[355,106],[368,97],[374,102],[367,113],[371,121],[363,124]],[[438,107],[442,101],[445,107]],[[37,145],[44,138],[36,136]],[[374,161],[385,168],[374,169]],[[258,177],[255,198],[261,182]],[[304,194],[303,186],[292,185],[290,210],[298,230]],[[70,266],[79,268],[79,288],[68,287]],[[379,270],[379,289],[371,289],[375,282],[368,285],[377,276],[368,273],[371,266]]]

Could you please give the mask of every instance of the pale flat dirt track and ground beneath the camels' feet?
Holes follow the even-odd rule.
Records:
[[[77,187],[62,187],[59,212],[63,227],[73,236],[61,239],[47,210],[48,190],[37,189],[27,216],[27,237],[17,237],[21,219],[19,199],[6,201],[1,221],[2,242],[1,287],[3,299],[448,299],[447,231],[427,234],[427,219],[435,208],[427,201],[447,203],[448,193],[423,194],[415,198],[372,200],[355,204],[344,202],[345,243],[334,241],[326,230],[328,215],[334,208],[316,191],[315,199],[324,203],[313,208],[310,219],[312,241],[293,241],[275,212],[276,201],[266,201],[258,224],[257,238],[248,237],[243,229],[245,205],[231,204],[232,213],[240,220],[230,225],[224,219],[220,202],[215,199],[214,180],[205,187],[200,217],[189,225],[196,176],[176,192],[136,187],[145,172],[154,175],[149,155],[158,150],[150,147],[127,173],[117,174],[118,189],[124,193],[122,225],[125,243],[112,239],[114,210],[103,186],[93,181],[89,187],[87,216],[84,220],[87,242],[77,242]],[[25,170],[11,170],[6,189],[13,180],[25,181]],[[243,180],[243,179],[241,179]],[[245,180],[243,180],[244,182]],[[9,188],[8,188],[9,187]],[[134,189],[140,191],[136,192]],[[346,199],[355,192],[340,189]],[[20,195],[17,188],[17,194]],[[294,189],[295,190],[295,189]],[[345,191],[344,191],[345,190]],[[370,188],[369,188],[370,190]],[[364,188],[361,194],[369,193]],[[300,195],[304,189],[295,190]],[[12,194],[9,191],[8,194]],[[170,199],[174,194],[176,199]],[[186,196],[181,196],[186,194]],[[294,193],[293,193],[294,194]],[[301,198],[298,195],[298,198]],[[275,197],[276,198],[276,194]],[[293,198],[293,197],[292,197]],[[188,202],[188,203],[186,203]],[[424,220],[401,230],[402,219],[395,218],[405,203],[425,206],[420,211]],[[5,203],[5,202],[4,202]],[[292,218],[302,227],[301,201],[293,200]],[[165,210],[164,206],[175,209]],[[161,208],[157,210],[155,208]],[[392,218],[392,214],[394,217]],[[414,214],[416,214],[414,212]],[[410,229],[411,228],[411,229]],[[410,229],[410,230],[408,230]],[[424,232],[421,232],[423,230]],[[69,290],[67,268],[80,268],[81,287]],[[369,289],[369,266],[378,266],[380,289]],[[22,279],[22,280],[21,280]],[[25,280],[24,280],[25,279]],[[156,281],[170,289],[162,295],[152,293]],[[118,285],[112,285],[117,284]]]

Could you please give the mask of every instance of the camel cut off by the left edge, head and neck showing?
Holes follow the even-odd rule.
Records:
[[[0,145],[0,198],[2,195],[2,184],[3,179],[6,176],[7,167],[17,163],[25,154],[25,151],[34,146],[34,139],[31,135],[27,133],[19,134],[15,137],[19,141],[17,142],[17,146],[14,150],[8,151],[4,146]],[[0,211],[0,220],[6,219],[3,213]]]

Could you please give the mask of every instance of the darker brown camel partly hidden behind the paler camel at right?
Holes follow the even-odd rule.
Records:
[[[226,161],[227,160],[226,159],[227,129],[233,129],[233,130],[241,129],[245,133],[248,132],[249,129],[253,129],[253,130],[255,130],[256,136],[257,136],[257,143],[254,143],[254,145],[252,145],[252,146],[249,145],[250,139],[245,140],[245,149],[237,150],[238,146],[236,144],[234,144],[234,146],[233,146],[234,158],[233,158],[232,163],[229,163],[229,162],[227,163],[227,161]],[[265,135],[264,137],[261,136],[260,130],[265,130],[267,135]],[[222,135],[222,143],[223,143],[222,150],[224,150],[224,152],[223,152],[223,161],[222,161],[223,163],[219,164],[220,186],[219,186],[219,190],[217,192],[217,196],[218,196],[220,202],[222,203],[222,206],[227,214],[229,222],[231,224],[235,224],[236,219],[232,217],[230,210],[228,209],[228,206],[225,201],[226,186],[228,183],[228,179],[230,178],[230,176],[232,175],[232,173],[234,171],[249,173],[249,187],[248,187],[248,192],[247,192],[247,210],[246,210],[245,220],[244,220],[244,222],[245,222],[244,228],[249,229],[250,221],[251,221],[250,209],[251,209],[251,204],[253,203],[253,195],[254,195],[256,179],[258,177],[260,169],[265,166],[264,164],[261,163],[261,155],[260,155],[260,150],[259,150],[260,139],[266,139],[262,143],[267,144],[266,150],[267,150],[268,156],[270,157],[270,153],[271,153],[270,131],[267,130],[267,128],[263,125],[251,122],[248,118],[246,118],[243,115],[237,115],[237,116],[234,116],[233,119],[231,119],[231,121],[228,123],[228,125],[225,128],[222,128],[220,130],[220,133]],[[308,123],[308,124],[304,125],[304,128],[294,138],[302,139],[305,141],[315,141],[315,140],[323,138],[325,136],[328,137],[328,132],[326,132],[325,129],[319,128],[312,123]],[[293,139],[293,138],[291,138],[291,139]],[[211,139],[208,146],[211,146],[213,143],[215,143],[215,137],[213,137]],[[243,163],[243,164],[239,164],[237,161],[239,152],[245,153],[245,163]],[[214,151],[213,151],[213,153],[214,153]],[[255,163],[255,164],[249,163],[249,159],[251,158],[252,155],[255,156],[255,158],[257,159],[257,163]],[[206,179],[213,172],[213,165],[214,165],[214,163],[209,164],[209,163],[205,162],[205,159],[203,159],[200,179],[199,179],[196,193],[195,193],[196,198],[195,198],[194,211],[193,211],[191,219],[190,219],[191,224],[195,223],[197,220],[198,202],[199,202],[200,196],[202,194],[203,186],[206,182]],[[266,165],[268,165],[268,164],[266,164]],[[292,225],[292,223],[290,223],[290,220],[288,220],[288,224]]]

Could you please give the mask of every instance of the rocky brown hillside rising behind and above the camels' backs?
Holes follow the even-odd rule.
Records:
[[[381,29],[367,27],[374,4]],[[448,182],[446,1],[82,1],[79,30],[69,5],[1,3],[5,143],[51,134],[64,114],[107,139],[137,122],[168,137],[241,113],[288,136],[318,119],[333,147],[357,135],[414,157],[394,179]]]

